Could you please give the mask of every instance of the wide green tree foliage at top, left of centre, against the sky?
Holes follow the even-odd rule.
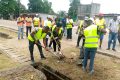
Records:
[[[53,14],[52,3],[48,0],[29,0],[28,10],[33,13]]]

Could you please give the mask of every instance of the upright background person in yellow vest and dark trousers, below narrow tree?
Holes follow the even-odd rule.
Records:
[[[72,39],[72,27],[73,27],[73,19],[70,17],[67,18],[66,21],[67,28],[67,39]]]

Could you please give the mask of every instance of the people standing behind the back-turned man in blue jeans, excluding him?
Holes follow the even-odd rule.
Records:
[[[83,39],[82,47],[84,46],[85,39],[84,39],[83,31],[84,31],[84,28],[86,27],[87,19],[88,19],[88,17],[85,17],[84,20],[81,20],[79,22],[78,29],[76,31],[76,34],[78,34],[76,47],[79,47],[79,43],[80,43],[81,39]],[[108,39],[107,50],[110,50],[111,44],[113,43],[112,50],[116,51],[115,46],[116,46],[117,38],[120,43],[120,21],[117,18],[117,16],[113,16],[113,19],[111,19],[108,24],[106,24],[104,15],[102,13],[95,15],[91,19],[93,21],[93,24],[97,25],[99,28],[109,30],[109,39]],[[100,49],[102,47],[104,35],[105,35],[104,33],[99,33],[99,48]]]

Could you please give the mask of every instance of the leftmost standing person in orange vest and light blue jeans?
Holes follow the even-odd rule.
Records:
[[[23,15],[20,15],[18,18],[17,18],[17,26],[18,26],[18,40],[20,40],[20,37],[21,39],[23,39],[23,34],[24,34],[24,18],[23,18]]]

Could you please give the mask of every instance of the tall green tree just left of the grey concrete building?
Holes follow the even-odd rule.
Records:
[[[80,0],[70,0],[68,15],[74,20],[77,18],[78,5],[80,5]]]

